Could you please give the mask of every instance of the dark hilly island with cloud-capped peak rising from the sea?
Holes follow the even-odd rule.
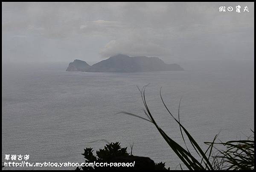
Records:
[[[180,71],[178,64],[166,64],[158,57],[135,56],[124,54],[111,56],[92,66],[81,60],[70,63],[67,71],[84,72],[149,72],[149,71]]]

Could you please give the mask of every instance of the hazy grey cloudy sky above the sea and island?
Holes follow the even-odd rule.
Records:
[[[115,54],[158,56],[167,62],[254,58],[254,3],[2,6],[3,62],[95,62]],[[219,12],[220,6],[226,12]]]

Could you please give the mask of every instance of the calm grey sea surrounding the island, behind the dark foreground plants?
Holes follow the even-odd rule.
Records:
[[[160,99],[206,149],[204,141],[229,141],[252,134],[253,61],[184,62],[185,71],[141,73],[66,72],[68,63],[3,64],[2,162],[5,154],[29,154],[29,162],[84,162],[84,148],[119,141],[133,154],[166,162],[179,158],[146,117],[138,87],[160,127],[183,145],[180,130]],[[192,150],[192,147],[189,146]],[[3,165],[3,164],[2,164]],[[29,169],[25,167],[4,169]],[[30,169],[76,169],[31,167]]]

